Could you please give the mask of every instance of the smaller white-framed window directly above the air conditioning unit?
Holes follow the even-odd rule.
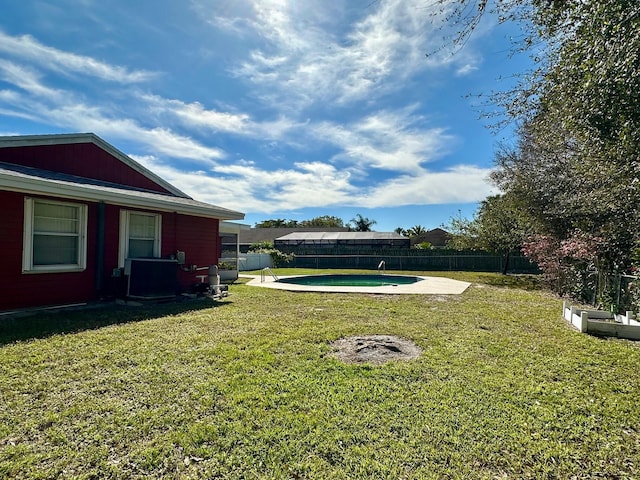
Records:
[[[160,256],[162,216],[155,213],[120,211],[120,266],[125,258]]]

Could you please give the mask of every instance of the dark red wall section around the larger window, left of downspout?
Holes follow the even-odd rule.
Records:
[[[24,195],[0,191],[0,310],[79,303],[95,297],[96,206],[89,204],[87,269],[22,273]]]

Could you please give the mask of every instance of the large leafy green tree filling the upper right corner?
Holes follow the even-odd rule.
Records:
[[[531,219],[541,244],[529,250],[555,245],[561,263],[589,258],[600,273],[632,268],[640,240],[640,2],[438,3],[457,20],[458,42],[487,11],[527,32],[516,48],[529,49],[534,68],[493,99],[520,125],[518,144],[497,155],[494,179]]]

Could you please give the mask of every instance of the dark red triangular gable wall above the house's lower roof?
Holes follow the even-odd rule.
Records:
[[[0,161],[170,193],[93,143],[1,148]]]

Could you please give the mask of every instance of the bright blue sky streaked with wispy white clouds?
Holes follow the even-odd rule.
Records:
[[[491,16],[453,51],[431,3],[3,2],[0,135],[94,132],[250,225],[435,228],[496,193],[474,95],[527,62]]]

